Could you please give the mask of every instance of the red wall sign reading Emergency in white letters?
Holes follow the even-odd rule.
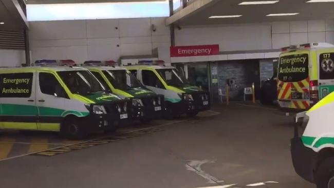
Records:
[[[219,45],[171,46],[171,57],[189,57],[199,55],[217,55]]]

